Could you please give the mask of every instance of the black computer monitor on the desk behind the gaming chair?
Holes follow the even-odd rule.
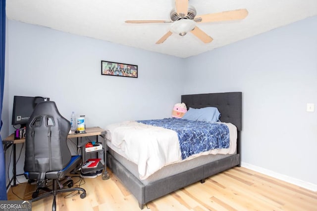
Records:
[[[20,125],[20,128],[26,127],[35,106],[39,102],[42,102],[42,101],[50,101],[50,98],[14,96],[13,111],[12,111],[12,125],[13,126]]]

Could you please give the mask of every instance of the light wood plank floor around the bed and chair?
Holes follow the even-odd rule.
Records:
[[[138,202],[115,175],[110,179],[85,178],[79,195],[59,194],[57,211],[139,211]],[[74,178],[77,181],[78,178]],[[84,181],[82,181],[83,183]],[[12,190],[27,200],[35,185],[19,184]],[[76,193],[75,193],[76,194]],[[74,193],[72,193],[74,195]],[[8,200],[19,200],[11,190]],[[32,203],[32,211],[51,211],[53,197]],[[145,211],[317,211],[317,192],[245,168],[233,168],[161,197]]]

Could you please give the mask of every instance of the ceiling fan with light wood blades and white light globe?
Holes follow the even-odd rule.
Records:
[[[241,20],[248,15],[247,9],[237,9],[206,15],[196,15],[195,7],[188,4],[189,0],[175,0],[175,9],[170,12],[170,20],[126,20],[126,23],[172,23],[170,30],[159,39],[157,44],[164,42],[173,33],[180,36],[191,32],[205,43],[213,39],[196,26],[196,23]]]

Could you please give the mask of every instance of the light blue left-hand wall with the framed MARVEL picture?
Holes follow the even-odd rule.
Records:
[[[65,118],[70,119],[72,111],[86,115],[86,127],[171,117],[180,101],[181,58],[13,20],[7,33],[8,98],[2,113],[9,119],[2,121],[9,131],[3,137],[14,131],[14,95],[50,97]],[[101,75],[101,60],[138,65],[138,78]],[[23,172],[23,165],[24,150],[17,173]]]

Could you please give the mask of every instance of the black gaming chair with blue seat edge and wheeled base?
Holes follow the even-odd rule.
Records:
[[[82,163],[81,156],[72,156],[68,149],[69,129],[69,121],[59,114],[53,101],[37,104],[26,127],[24,175],[35,180],[38,187],[30,201],[53,195],[53,211],[56,210],[55,196],[59,192],[82,191],[80,198],[86,197],[85,189],[71,188],[73,181],[66,176]],[[53,180],[52,189],[47,187],[48,180]],[[39,195],[40,190],[47,193]]]

